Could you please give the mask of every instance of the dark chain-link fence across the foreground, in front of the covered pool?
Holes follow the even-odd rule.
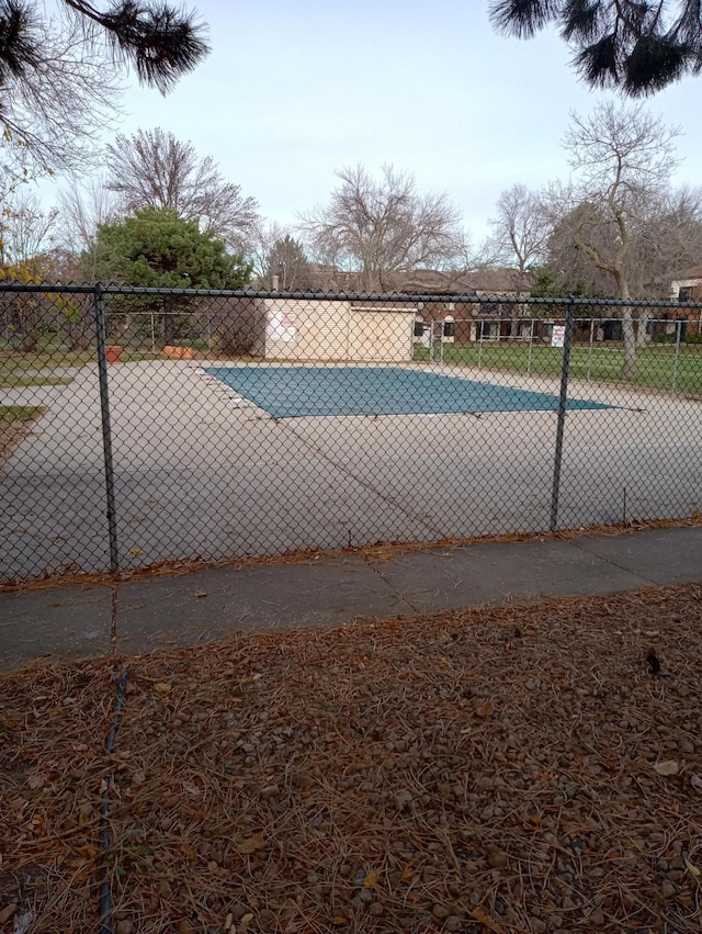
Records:
[[[695,515],[701,320],[0,285],[0,577]]]

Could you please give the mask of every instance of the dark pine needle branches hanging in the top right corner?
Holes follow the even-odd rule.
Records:
[[[592,87],[649,94],[702,69],[700,0],[497,0],[490,18],[518,38],[557,24]]]

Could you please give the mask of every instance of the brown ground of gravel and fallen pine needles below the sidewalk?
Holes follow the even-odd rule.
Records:
[[[0,930],[105,874],[116,934],[699,934],[701,634],[686,586],[4,676]]]

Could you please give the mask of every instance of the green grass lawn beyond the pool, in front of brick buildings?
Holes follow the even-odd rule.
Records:
[[[439,360],[441,348],[434,348],[434,360]],[[561,373],[563,350],[559,347],[533,345],[531,358],[529,344],[507,344],[485,341],[477,344],[445,344],[443,362],[463,367],[484,367],[486,370],[532,375],[557,376]],[[621,347],[575,346],[570,351],[570,376],[577,379],[601,380],[605,382],[627,382],[652,389],[672,389],[676,368],[676,348],[671,345],[655,344],[636,355],[636,373],[632,380],[621,378],[623,351]],[[426,347],[415,348],[415,360],[428,361]],[[702,345],[682,345],[678,359],[676,387],[680,392],[702,393]]]

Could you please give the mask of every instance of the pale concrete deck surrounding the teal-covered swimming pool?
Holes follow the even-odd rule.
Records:
[[[557,392],[555,378],[414,369]],[[0,469],[0,579],[110,569],[97,368],[72,375],[0,394],[47,407]],[[109,387],[121,570],[550,528],[553,412],[275,419],[176,360],[111,365]],[[699,401],[570,391],[616,408],[567,415],[558,528],[695,514]]]

